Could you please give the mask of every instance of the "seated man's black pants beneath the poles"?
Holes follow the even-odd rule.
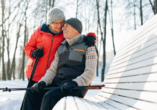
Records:
[[[58,86],[52,83],[48,87]],[[62,93],[60,88],[42,90],[40,93],[33,93],[31,90],[28,90],[22,110],[52,110],[55,104],[64,96],[83,97],[81,90],[74,90],[68,94]]]

